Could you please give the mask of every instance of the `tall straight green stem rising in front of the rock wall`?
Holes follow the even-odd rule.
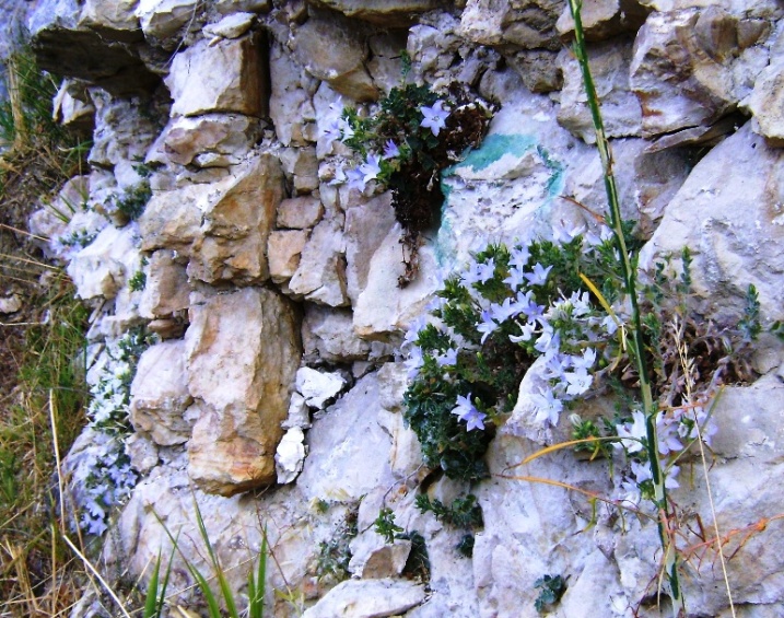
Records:
[[[574,19],[574,55],[580,62],[583,72],[583,82],[585,84],[585,93],[590,108],[590,115],[594,119],[594,128],[596,129],[596,145],[599,149],[601,158],[601,166],[605,176],[605,190],[607,191],[607,202],[610,208],[610,228],[612,229],[616,247],[618,249],[621,273],[625,292],[631,301],[632,324],[631,338],[629,341],[630,351],[636,364],[637,374],[640,375],[640,389],[643,398],[643,409],[645,412],[645,430],[647,433],[647,454],[651,466],[651,476],[654,486],[654,505],[658,513],[658,534],[664,552],[665,573],[670,587],[670,596],[672,598],[672,613],[677,616],[684,606],[680,592],[678,580],[678,556],[675,545],[671,543],[668,534],[669,509],[667,504],[667,489],[665,487],[665,475],[658,458],[658,443],[656,436],[656,413],[658,411],[651,388],[651,359],[643,342],[642,318],[640,315],[640,306],[637,304],[636,293],[636,267],[632,264],[627,249],[627,242],[623,235],[623,226],[621,219],[621,207],[618,199],[618,187],[616,186],[616,177],[612,172],[612,151],[610,142],[605,133],[605,124],[601,118],[599,108],[599,98],[596,94],[594,80],[590,75],[590,67],[588,67],[588,57],[585,51],[585,35],[583,33],[583,22],[580,11],[582,0],[569,0],[569,8]]]

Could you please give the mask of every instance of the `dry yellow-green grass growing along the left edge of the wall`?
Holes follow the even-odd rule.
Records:
[[[51,120],[55,80],[31,56],[9,63],[0,102],[0,616],[65,616],[82,596],[81,565],[61,539],[54,445],[65,453],[84,424],[87,312],[63,272],[25,232],[42,196],[81,166],[84,148]],[[77,148],[74,148],[74,145]]]

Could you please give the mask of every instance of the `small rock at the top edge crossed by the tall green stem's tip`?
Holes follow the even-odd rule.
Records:
[[[597,0],[583,4],[580,18],[586,40],[604,40],[619,34],[636,33],[650,12],[646,2],[640,0]],[[571,38],[574,20],[569,5],[555,27],[562,37]]]

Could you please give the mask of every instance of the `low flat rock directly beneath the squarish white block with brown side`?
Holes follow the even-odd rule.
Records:
[[[173,161],[199,167],[239,163],[258,139],[257,118],[239,114],[175,116],[150,149],[149,162]]]

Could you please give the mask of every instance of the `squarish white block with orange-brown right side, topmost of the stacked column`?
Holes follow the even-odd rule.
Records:
[[[215,45],[201,40],[180,51],[165,79],[174,98],[172,114],[266,115],[269,98],[264,77],[266,55],[266,40],[260,35],[222,39]]]

